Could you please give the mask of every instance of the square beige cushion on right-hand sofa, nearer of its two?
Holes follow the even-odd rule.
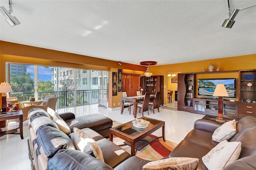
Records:
[[[221,170],[239,158],[241,144],[224,140],[203,156],[202,161],[208,170]]]

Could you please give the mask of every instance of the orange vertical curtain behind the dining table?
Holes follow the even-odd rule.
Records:
[[[127,91],[128,96],[136,96],[136,90],[140,90],[140,75],[123,73],[122,91]]]

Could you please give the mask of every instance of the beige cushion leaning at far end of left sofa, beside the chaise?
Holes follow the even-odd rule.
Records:
[[[66,133],[68,136],[70,135],[70,127],[68,126],[68,124],[60,117],[60,115],[58,115],[58,113],[56,113],[53,109],[49,108],[47,109],[47,113],[49,114],[49,116],[51,117],[51,119],[57,124],[58,128]]]

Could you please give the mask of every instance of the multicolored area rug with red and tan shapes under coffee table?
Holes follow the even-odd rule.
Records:
[[[113,121],[112,127],[116,127],[121,124],[122,123]],[[149,136],[151,136],[153,138],[157,137],[152,134],[150,134]],[[113,136],[113,142],[117,145],[124,144],[124,140],[122,140],[121,138],[118,138],[116,136]],[[166,142],[164,142],[162,140],[162,138],[158,138],[158,139],[155,139],[152,142],[150,142],[150,144],[145,146],[142,150],[138,150],[136,152],[136,156],[138,156],[139,158],[142,158],[142,159],[146,159],[146,160],[158,160],[158,159],[162,159],[165,156],[169,156],[169,154],[172,152],[172,150],[176,146],[177,146],[177,144],[174,142],[171,142],[169,140],[166,140]],[[130,146],[125,145],[125,146],[121,146],[121,147],[124,150],[126,150],[127,152],[131,153]]]

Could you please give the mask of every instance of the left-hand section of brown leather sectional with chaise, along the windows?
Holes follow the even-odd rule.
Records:
[[[108,117],[91,114],[75,118],[73,113],[60,114],[70,127],[71,133],[67,135],[58,128],[49,115],[39,108],[33,108],[28,113],[29,134],[36,170],[112,169],[130,157],[128,152],[107,139],[113,123]],[[82,129],[97,142],[105,163],[76,150],[74,127]],[[82,162],[86,162],[86,167],[80,167]]]

